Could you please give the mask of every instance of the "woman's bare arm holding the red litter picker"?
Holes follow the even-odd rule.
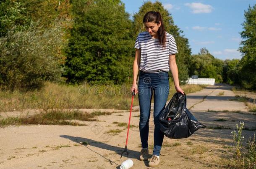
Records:
[[[131,87],[131,92],[133,90],[135,90],[134,91],[135,94],[138,93],[137,76],[138,76],[140,60],[141,60],[141,50],[136,49],[135,50],[135,58],[133,61],[133,86]]]

